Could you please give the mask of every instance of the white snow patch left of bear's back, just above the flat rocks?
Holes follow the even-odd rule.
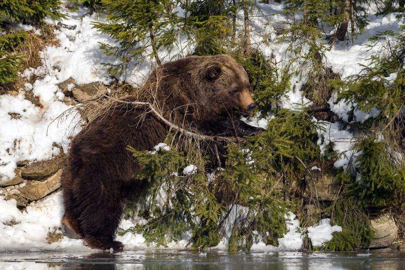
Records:
[[[50,88],[52,91],[52,89]],[[73,109],[55,120],[72,106],[49,98],[39,108],[26,100],[24,94],[0,96],[0,183],[15,176],[14,169],[20,160],[46,160],[67,152],[69,137],[74,136],[82,119]],[[13,119],[10,114],[18,114]]]

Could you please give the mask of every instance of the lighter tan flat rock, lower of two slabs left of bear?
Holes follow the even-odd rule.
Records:
[[[28,201],[36,201],[57,190],[61,185],[62,169],[47,178],[45,181],[28,181],[20,189],[21,196]]]

